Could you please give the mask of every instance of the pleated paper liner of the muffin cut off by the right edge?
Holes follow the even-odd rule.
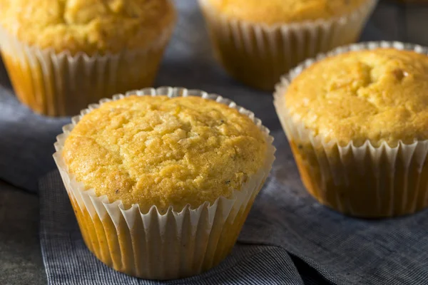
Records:
[[[411,214],[428,205],[428,140],[397,146],[367,140],[339,145],[314,136],[288,113],[288,86],[302,71],[328,56],[347,51],[397,48],[428,54],[428,48],[399,42],[368,42],[340,47],[294,68],[277,84],[274,104],[295,155],[307,190],[322,204],[356,217],[393,217]]]

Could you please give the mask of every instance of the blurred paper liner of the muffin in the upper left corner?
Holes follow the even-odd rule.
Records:
[[[93,56],[29,46],[0,27],[0,48],[21,103],[42,115],[75,115],[101,98],[151,86],[173,26],[147,48]]]

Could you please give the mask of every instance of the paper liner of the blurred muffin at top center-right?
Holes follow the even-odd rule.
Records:
[[[377,0],[345,16],[292,24],[257,24],[231,19],[199,0],[215,56],[235,78],[273,90],[280,76],[317,53],[357,41]]]

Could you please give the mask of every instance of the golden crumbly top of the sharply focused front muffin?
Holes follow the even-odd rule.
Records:
[[[125,207],[180,211],[230,197],[265,162],[246,115],[199,97],[131,96],[84,115],[63,147],[68,171]]]

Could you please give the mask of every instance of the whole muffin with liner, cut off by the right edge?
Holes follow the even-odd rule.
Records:
[[[302,182],[319,202],[370,218],[427,207],[427,51],[362,43],[282,78],[275,108]]]

